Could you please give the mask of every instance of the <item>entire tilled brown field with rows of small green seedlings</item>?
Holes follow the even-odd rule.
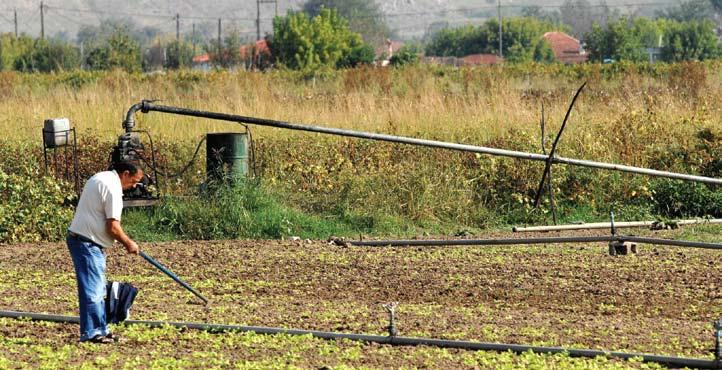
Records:
[[[718,227],[658,232],[716,239]],[[494,234],[493,236],[510,236]],[[711,357],[722,316],[718,251],[606,245],[339,247],[321,241],[183,241],[142,246],[209,298],[208,307],[138,257],[109,252],[110,280],[140,293],[132,318]],[[0,309],[74,315],[62,244],[0,249]],[[32,299],[29,299],[32,297]],[[640,368],[639,362],[387,347],[310,337],[118,326],[120,344],[78,344],[77,325],[0,319],[8,367]],[[135,365],[133,365],[135,364]],[[654,367],[654,366],[652,366]]]

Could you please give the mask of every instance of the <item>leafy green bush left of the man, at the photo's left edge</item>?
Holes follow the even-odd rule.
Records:
[[[69,184],[36,169],[0,169],[0,242],[61,240],[73,218],[74,196]]]

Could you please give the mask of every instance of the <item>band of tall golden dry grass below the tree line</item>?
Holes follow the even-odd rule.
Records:
[[[654,130],[665,135],[669,130],[687,130],[681,123],[694,120],[696,124],[700,114],[708,121],[704,124],[722,124],[722,81],[719,76],[708,76],[704,68],[691,76],[703,79],[704,88],[690,86],[688,79],[674,71],[666,78],[631,72],[610,80],[594,74],[587,78],[589,87],[572,114],[566,147],[589,149],[600,134],[634,130],[620,120],[647,111],[654,111],[657,119],[650,123]],[[161,104],[208,111],[480,143],[510,130],[538,136],[542,101],[550,130],[558,127],[574,90],[583,81],[544,72],[518,77],[501,68],[425,67],[351,70],[315,81],[284,72],[178,72],[147,77],[113,72],[75,88],[47,83],[51,79],[32,75],[3,79],[14,80],[9,82],[11,88],[3,89],[0,102],[4,112],[0,129],[9,138],[38,140],[43,119],[62,116],[70,118],[80,132],[112,140],[121,131],[130,105],[142,99],[161,99]],[[691,95],[686,94],[690,89]],[[156,135],[181,141],[237,128],[159,113],[139,115],[138,121]],[[290,134],[275,129],[258,131],[272,137]]]

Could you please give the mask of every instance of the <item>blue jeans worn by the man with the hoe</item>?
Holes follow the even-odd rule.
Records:
[[[105,321],[105,254],[94,243],[68,237],[68,250],[73,257],[78,282],[80,307],[80,341],[108,335]]]

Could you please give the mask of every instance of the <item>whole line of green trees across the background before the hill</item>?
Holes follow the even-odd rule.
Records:
[[[323,68],[347,68],[369,64],[376,58],[374,46],[388,29],[379,23],[377,7],[365,9],[364,18],[377,23],[351,22],[337,10],[333,0],[313,0],[305,12],[289,12],[273,21],[273,34],[267,36],[270,55],[262,62],[253,59],[255,46],[240,53],[242,46],[238,32],[231,31],[223,42],[208,42],[195,50],[197,40],[190,38],[162,40],[146,29],[135,29],[122,22],[103,22],[101,26],[84,27],[78,33],[83,47],[60,39],[32,39],[27,35],[0,35],[0,70],[22,72],[52,72],[86,68],[108,70],[121,68],[129,72],[157,68],[185,68],[192,65],[194,53],[205,51],[212,65],[234,68],[253,65],[315,71]],[[363,2],[351,2],[349,4]],[[373,2],[372,2],[373,3]],[[353,9],[340,7],[353,16]],[[375,4],[375,3],[374,3]],[[328,7],[326,7],[328,5]],[[369,15],[370,14],[370,15]],[[369,24],[378,29],[369,30]],[[353,29],[359,29],[356,32]],[[501,45],[505,60],[517,62],[552,62],[554,55],[543,38],[549,31],[568,31],[569,26],[536,17],[506,18],[502,23]],[[397,53],[396,64],[413,63],[418,55],[456,56],[499,53],[499,23],[489,19],[479,26],[446,28],[428,38],[425,45],[416,44]],[[370,41],[365,41],[366,39]],[[722,55],[715,25],[705,19],[680,21],[671,18],[625,18],[594,23],[581,38],[591,61],[630,60],[649,58],[649,48],[658,48],[663,61],[706,60]],[[141,46],[143,45],[143,46]]]

